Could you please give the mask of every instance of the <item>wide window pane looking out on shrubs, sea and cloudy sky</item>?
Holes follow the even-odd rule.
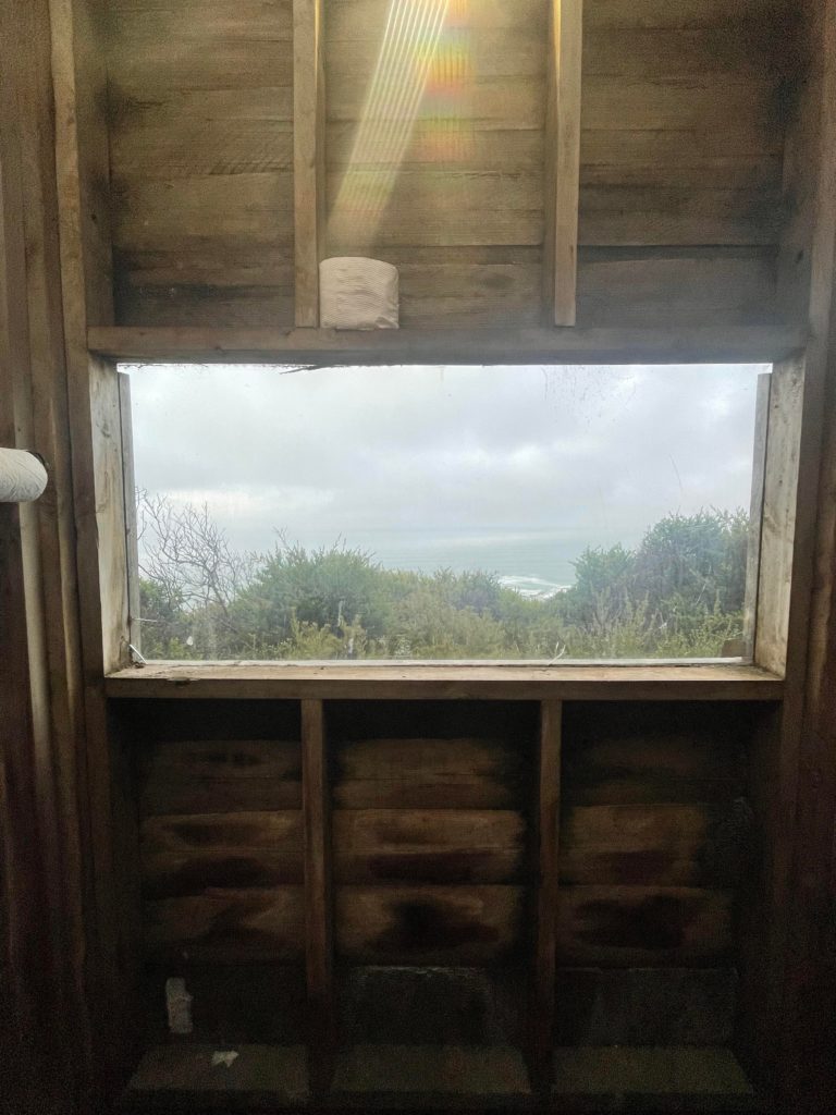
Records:
[[[146,658],[747,657],[762,366],[121,370]]]

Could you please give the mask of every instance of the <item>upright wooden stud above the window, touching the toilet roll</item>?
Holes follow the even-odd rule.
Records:
[[[314,328],[325,209],[323,20],[323,0],[293,0],[294,320]]]

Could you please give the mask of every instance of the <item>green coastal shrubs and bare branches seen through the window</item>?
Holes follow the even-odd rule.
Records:
[[[207,508],[138,500],[149,659],[713,658],[742,638],[748,515],[670,514],[589,547],[546,599],[489,570],[382,568],[348,543],[239,553]]]

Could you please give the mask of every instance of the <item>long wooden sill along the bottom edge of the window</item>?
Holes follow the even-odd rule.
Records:
[[[108,697],[325,700],[780,700],[755,666],[149,662],[109,675]]]

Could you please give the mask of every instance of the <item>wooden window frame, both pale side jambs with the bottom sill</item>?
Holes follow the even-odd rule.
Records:
[[[348,362],[344,359],[336,362]],[[495,361],[498,362],[498,361]],[[523,363],[523,360],[517,360]],[[528,362],[525,360],[525,362]],[[97,534],[101,579],[101,620],[106,690],[162,696],[275,696],[328,699],[372,696],[536,697],[580,699],[777,699],[787,668],[790,597],[796,549],[796,502],[799,485],[801,357],[776,362],[761,377],[752,476],[752,522],[747,568],[747,653],[723,661],[635,661],[590,663],[515,662],[153,662],[139,663],[137,647],[138,556],[130,493],[134,468],[128,377],[113,357],[97,359],[98,378],[109,381],[98,394],[107,399],[105,417],[94,415],[94,459],[97,476]],[[103,379],[104,377],[104,379]],[[113,423],[118,414],[118,438]],[[111,421],[106,420],[110,416]],[[120,454],[120,455],[117,455]],[[108,475],[108,469],[110,475]],[[116,477],[116,482],[114,482]],[[105,497],[107,493],[107,497]],[[116,502],[117,506],[114,506]],[[114,627],[115,624],[115,627]]]

